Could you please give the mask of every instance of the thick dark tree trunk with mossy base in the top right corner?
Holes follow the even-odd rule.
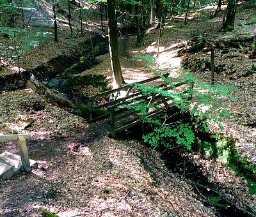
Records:
[[[228,0],[227,6],[227,17],[221,27],[221,31],[232,31],[234,30],[235,17],[236,17],[237,0]]]

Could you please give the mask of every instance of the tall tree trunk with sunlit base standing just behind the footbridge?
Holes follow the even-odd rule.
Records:
[[[113,71],[113,87],[120,87],[124,84],[120,61],[118,57],[118,27],[115,11],[115,0],[107,0],[108,4],[108,38],[109,55]]]

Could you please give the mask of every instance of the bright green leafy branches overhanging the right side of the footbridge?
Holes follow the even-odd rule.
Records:
[[[145,56],[144,59],[152,61],[148,56]],[[144,141],[152,147],[172,147],[173,144],[178,144],[191,149],[191,144],[195,142],[196,131],[209,132],[210,123],[216,123],[222,129],[221,121],[224,118],[230,118],[223,101],[227,98],[234,99],[229,93],[232,87],[198,82],[188,70],[182,71],[177,78],[163,76],[161,78],[166,85],[170,86],[171,90],[154,85],[137,85],[138,89],[146,96],[154,94],[173,101],[161,116],[157,116],[157,118],[148,116],[148,109],[161,108],[157,108],[154,103],[148,103],[147,100],[134,101],[128,106],[130,109],[139,111],[141,121],[150,124],[154,129],[143,136]],[[195,85],[193,89],[188,88],[188,85],[182,89],[172,89],[179,82],[195,83]]]

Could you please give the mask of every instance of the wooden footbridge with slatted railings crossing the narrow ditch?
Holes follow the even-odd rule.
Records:
[[[127,130],[140,123],[140,112],[125,109],[124,105],[129,106],[134,101],[142,100],[148,106],[150,105],[150,109],[147,109],[147,117],[160,116],[167,108],[173,105],[174,99],[170,96],[162,96],[156,93],[145,94],[138,89],[138,84],[154,84],[155,87],[170,93],[177,93],[179,91],[185,94],[189,93],[189,89],[193,89],[193,83],[166,83],[164,78],[168,77],[168,75],[169,73],[166,73],[90,96],[88,99],[88,120],[93,122],[108,118],[109,131],[111,136],[115,138],[116,133]],[[191,96],[188,95],[188,98],[191,98]]]

